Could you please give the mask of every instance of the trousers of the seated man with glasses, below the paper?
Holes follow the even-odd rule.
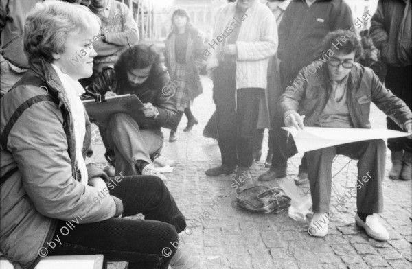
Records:
[[[335,145],[306,152],[308,155],[308,178],[314,212],[329,212],[332,187],[332,162],[336,154],[358,161],[356,181],[356,206],[358,213],[382,213],[382,180],[385,176],[386,145],[382,139]],[[355,191],[355,189],[353,189]],[[348,199],[345,189],[341,198]],[[352,192],[352,191],[351,191]],[[352,194],[350,196],[352,198]],[[339,199],[336,198],[336,199]],[[340,204],[344,204],[340,202]],[[336,207],[339,202],[334,202]]]

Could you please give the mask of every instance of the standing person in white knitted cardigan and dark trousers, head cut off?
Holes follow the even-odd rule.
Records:
[[[253,139],[267,85],[268,61],[277,49],[275,17],[258,0],[227,3],[216,16],[205,56],[213,73],[222,165],[207,176],[236,171],[232,187],[252,183]]]

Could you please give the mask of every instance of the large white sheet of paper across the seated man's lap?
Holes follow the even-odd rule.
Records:
[[[359,128],[324,128],[305,127],[296,130],[295,127],[282,127],[292,135],[297,152],[307,152],[328,148],[332,145],[341,145],[371,139],[388,139],[393,137],[407,137],[408,132],[399,132],[387,129],[359,129]]]

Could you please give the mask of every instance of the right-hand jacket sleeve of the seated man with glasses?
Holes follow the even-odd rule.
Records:
[[[393,95],[389,89],[385,88],[380,82],[378,75],[371,69],[365,68],[367,75],[371,76],[371,93],[372,102],[378,106],[389,118],[391,118],[400,128],[404,128],[404,124],[412,119],[411,110],[407,104],[400,98]]]

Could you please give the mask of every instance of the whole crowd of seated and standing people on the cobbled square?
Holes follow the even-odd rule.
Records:
[[[282,127],[371,128],[371,102],[387,115],[388,129],[411,133],[411,1],[380,0],[369,12],[362,19],[370,30],[360,32],[345,0],[229,1],[205,42],[179,8],[159,51],[140,42],[132,12],[119,1],[2,1],[1,254],[29,269],[42,248],[49,255],[103,254],[105,261],[128,261],[128,268],[187,268],[185,252],[174,245],[185,217],[154,161],[161,128],[170,129],[173,142],[183,114],[185,132],[198,124],[191,106],[203,93],[204,69],[216,111],[203,134],[218,141],[221,154],[207,176],[234,173],[233,182],[246,187],[284,178],[297,148]],[[139,113],[102,121],[89,118],[82,104],[125,94],[139,97]],[[93,153],[91,122],[114,174],[85,161]],[[253,178],[265,129],[269,169]],[[388,139],[388,148],[389,178],[411,180],[411,137]],[[308,233],[328,234],[336,154],[358,160],[358,180],[367,175],[356,183],[356,224],[388,240],[377,215],[382,139],[306,152],[294,180],[310,186]],[[144,220],[124,218],[138,213]],[[68,222],[78,225],[51,247]]]

